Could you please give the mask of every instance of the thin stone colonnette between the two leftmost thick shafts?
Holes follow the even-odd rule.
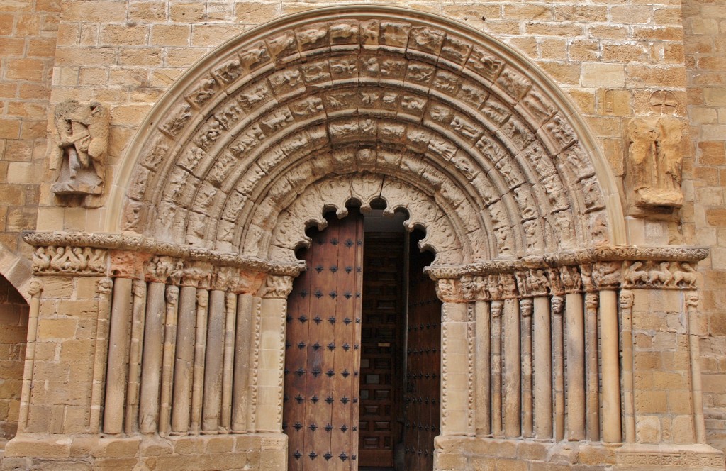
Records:
[[[141,360],[146,318],[146,282],[134,280],[131,288],[134,307],[131,314],[131,349],[129,350],[129,392],[126,395],[126,433],[139,431],[139,386],[141,385]]]

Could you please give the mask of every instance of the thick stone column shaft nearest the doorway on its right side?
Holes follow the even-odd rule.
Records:
[[[474,304],[476,320],[476,435],[492,433],[491,342],[492,329],[489,325],[489,303],[477,301]]]

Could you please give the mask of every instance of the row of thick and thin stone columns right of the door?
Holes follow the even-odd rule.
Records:
[[[537,286],[537,280],[546,283]],[[439,279],[442,328],[461,337],[444,340],[444,358],[447,344],[452,345],[449,358],[457,354],[457,345],[468,345],[474,377],[466,385],[447,371],[442,403],[447,395],[473,388],[469,397],[476,411],[473,420],[449,417],[444,433],[621,442],[617,289],[583,286],[576,267],[465,275],[453,283]],[[473,329],[454,327],[465,322]],[[629,374],[632,391],[632,368]]]

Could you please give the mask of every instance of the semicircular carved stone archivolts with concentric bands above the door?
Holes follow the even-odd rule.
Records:
[[[462,25],[296,15],[220,47],[157,105],[129,150],[121,229],[290,258],[325,207],[383,198],[428,230],[437,263],[622,243],[612,177],[568,109]]]

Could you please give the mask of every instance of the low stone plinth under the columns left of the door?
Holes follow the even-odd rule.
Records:
[[[287,435],[43,435],[7,443],[0,470],[287,470]]]

